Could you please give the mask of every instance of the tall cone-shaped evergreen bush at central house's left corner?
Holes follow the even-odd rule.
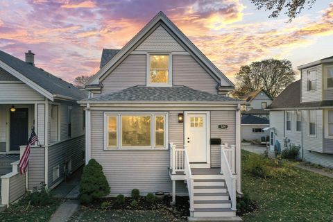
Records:
[[[83,169],[80,182],[80,203],[90,203],[94,198],[110,194],[110,186],[103,173],[103,167],[96,160],[89,160]]]

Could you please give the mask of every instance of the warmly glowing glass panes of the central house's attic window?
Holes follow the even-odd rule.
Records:
[[[169,83],[169,55],[149,55],[150,83],[168,84]]]

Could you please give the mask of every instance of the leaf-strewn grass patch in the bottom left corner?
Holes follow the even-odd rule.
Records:
[[[55,199],[53,204],[47,206],[28,206],[26,201],[10,205],[5,211],[0,213],[1,222],[46,222],[49,221],[52,214],[56,212],[61,200]]]

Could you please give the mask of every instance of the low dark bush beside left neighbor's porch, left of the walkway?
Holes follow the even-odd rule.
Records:
[[[46,206],[50,205],[54,201],[51,190],[46,187],[44,182],[41,182],[40,189],[35,187],[31,193],[27,194],[26,198],[33,206]]]

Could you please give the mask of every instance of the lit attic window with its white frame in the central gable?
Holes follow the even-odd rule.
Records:
[[[148,54],[147,85],[171,86],[171,56],[169,54]]]

